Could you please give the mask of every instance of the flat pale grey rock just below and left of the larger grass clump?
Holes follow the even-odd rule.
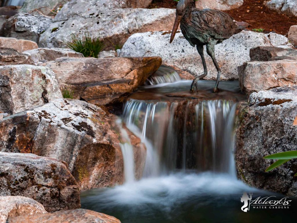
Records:
[[[32,57],[35,64],[39,62],[47,62],[55,60],[59,57],[83,57],[83,54],[75,52],[72,49],[67,48],[38,48],[34,50],[24,51],[24,54],[28,54]]]

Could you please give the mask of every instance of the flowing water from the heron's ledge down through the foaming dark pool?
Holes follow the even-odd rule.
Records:
[[[289,210],[241,210],[244,192],[254,198],[284,196],[237,180],[233,130],[236,105],[246,99],[238,82],[221,81],[216,94],[214,81],[199,81],[198,93],[189,92],[190,84],[179,80],[143,86],[130,96],[122,120],[147,147],[143,177],[131,178],[132,148],[121,145],[126,182],[83,191],[82,208],[122,223],[293,222],[296,199]]]

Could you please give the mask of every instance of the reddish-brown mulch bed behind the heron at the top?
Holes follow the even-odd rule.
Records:
[[[236,9],[225,11],[236,21],[250,24],[249,28],[264,29],[264,32],[276,32],[286,35],[290,26],[297,25],[297,17],[279,14],[263,5],[264,0],[244,0],[244,4]],[[175,8],[173,0],[154,0],[149,8]]]

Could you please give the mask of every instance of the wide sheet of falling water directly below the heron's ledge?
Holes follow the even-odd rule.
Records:
[[[235,176],[232,154],[235,113],[236,103],[232,100],[130,99],[124,106],[123,120],[150,148],[147,173],[197,169]]]

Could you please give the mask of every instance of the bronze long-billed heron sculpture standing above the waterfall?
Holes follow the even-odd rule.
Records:
[[[207,66],[203,54],[203,46],[206,45],[206,52],[211,57],[218,72],[216,85],[214,86],[214,92],[217,92],[221,69],[215,57],[214,46],[222,43],[223,40],[230,38],[232,35],[241,32],[246,27],[238,26],[233,18],[225,12],[195,8],[194,0],[180,0],[178,2],[170,43],[174,39],[179,24],[182,34],[190,45],[196,45],[204,69],[202,75],[195,76],[190,91],[194,91],[194,86],[198,91],[198,80],[207,75]]]

